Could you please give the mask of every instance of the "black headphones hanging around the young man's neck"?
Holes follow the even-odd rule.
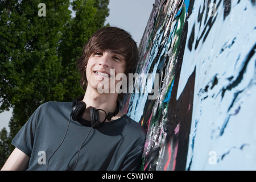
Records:
[[[85,102],[82,101],[83,98],[84,98],[84,95],[77,97],[76,100],[73,100],[73,104],[72,104],[73,109],[71,111],[71,117],[74,121],[79,121],[79,119],[82,118],[82,115],[85,112],[86,104]],[[106,117],[102,122],[104,123],[106,119],[110,121],[115,115],[118,114],[119,107],[120,107],[120,104],[117,101],[117,108],[115,109],[115,111],[113,113],[108,113],[108,114],[106,114],[106,112],[102,109],[96,109],[95,107],[90,108],[90,123],[92,127],[94,129],[97,129],[101,125],[100,114],[98,111],[101,110],[105,113]]]

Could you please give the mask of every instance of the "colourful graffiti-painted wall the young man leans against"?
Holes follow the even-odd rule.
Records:
[[[152,89],[123,103],[147,130],[143,170],[256,169],[255,19],[255,0],[155,1],[136,80]]]

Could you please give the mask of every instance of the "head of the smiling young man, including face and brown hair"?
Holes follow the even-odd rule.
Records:
[[[102,50],[105,51],[102,52]],[[105,56],[105,53],[107,53],[107,55],[111,53],[112,55],[106,60],[107,64],[102,65],[98,63],[98,61]],[[86,90],[89,81],[95,78],[93,74],[94,76],[97,75],[98,79],[111,78],[106,76],[109,75],[110,69],[115,69],[114,75],[120,72],[125,73],[127,78],[126,83],[128,83],[129,73],[135,73],[139,59],[138,56],[137,44],[128,32],[117,27],[101,28],[90,37],[83,48],[81,57],[77,60],[77,68],[81,74],[80,85]],[[121,62],[118,61],[118,57],[122,58]],[[89,63],[89,59],[90,61],[94,61]],[[120,69],[120,63],[123,64],[121,66],[122,71]],[[98,82],[101,82],[101,80],[90,81],[90,85],[95,88]],[[123,93],[118,94],[118,101],[122,101],[122,98]]]

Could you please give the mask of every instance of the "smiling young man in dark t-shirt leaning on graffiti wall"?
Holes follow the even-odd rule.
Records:
[[[84,96],[38,107],[14,137],[16,148],[2,170],[138,170],[145,132],[119,111],[120,79],[114,79],[119,73],[128,78],[137,61],[138,48],[126,31],[94,33],[77,61]],[[111,81],[115,92],[99,86]]]

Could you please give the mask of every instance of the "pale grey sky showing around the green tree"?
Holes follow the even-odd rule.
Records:
[[[154,3],[155,0],[110,0],[106,23],[129,32],[139,46]],[[0,131],[3,127],[10,131],[8,124],[12,111],[0,113]]]

